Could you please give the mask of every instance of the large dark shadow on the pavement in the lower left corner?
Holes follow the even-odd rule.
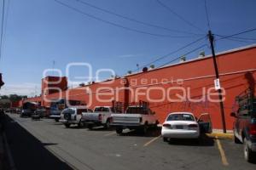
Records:
[[[54,144],[41,143],[9,116],[6,116],[5,133],[17,170],[73,169],[44,147]]]

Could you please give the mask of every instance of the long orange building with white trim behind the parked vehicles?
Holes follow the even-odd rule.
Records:
[[[225,122],[231,129],[234,120],[230,112],[235,108],[236,95],[249,87],[255,88],[256,45],[219,53],[217,62],[224,91]],[[61,92],[46,93],[44,97],[78,99],[90,108],[111,105],[113,99],[125,103],[142,99],[150,102],[150,108],[156,112],[160,122],[164,122],[172,111],[191,111],[195,116],[207,112],[212,117],[213,128],[221,129],[219,103],[213,101],[218,99],[214,79],[212,56],[209,55],[81,88],[61,88]],[[42,83],[42,92],[45,87]],[[41,99],[43,105],[49,105]]]

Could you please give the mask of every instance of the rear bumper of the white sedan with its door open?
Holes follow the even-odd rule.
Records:
[[[173,139],[197,139],[200,136],[196,130],[164,130],[161,132],[163,137]]]

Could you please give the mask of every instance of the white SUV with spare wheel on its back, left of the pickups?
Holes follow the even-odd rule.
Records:
[[[83,115],[85,113],[92,112],[90,109],[87,108],[79,108],[79,107],[69,107],[61,111],[61,119],[65,127],[70,127],[72,124],[76,124],[79,127],[84,127],[84,119]]]

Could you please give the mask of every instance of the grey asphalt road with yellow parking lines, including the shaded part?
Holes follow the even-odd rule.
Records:
[[[6,135],[18,170],[29,169],[247,169],[242,145],[230,139],[175,140],[164,143],[160,131],[118,136],[101,127],[66,128],[49,119],[32,121],[8,114]]]

